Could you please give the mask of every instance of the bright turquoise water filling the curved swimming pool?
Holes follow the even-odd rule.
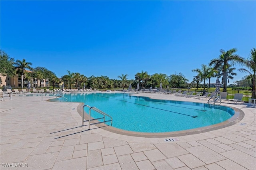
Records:
[[[127,93],[64,94],[68,102],[97,107],[113,117],[113,127],[136,132],[171,132],[221,123],[234,110],[220,105],[186,101],[156,100]],[[51,101],[67,102],[62,98]],[[85,108],[88,113],[89,108]],[[93,118],[102,117],[92,111]],[[108,124],[109,125],[109,124]]]

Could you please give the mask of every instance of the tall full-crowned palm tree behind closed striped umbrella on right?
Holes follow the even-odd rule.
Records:
[[[242,63],[243,58],[240,57],[238,54],[235,54],[237,51],[236,48],[232,48],[228,51],[224,51],[223,49],[220,49],[220,56],[219,58],[214,58],[210,61],[209,65],[214,65],[214,69],[218,69],[219,67],[222,67],[223,71],[223,91],[227,91],[227,79],[228,79],[228,73],[227,68],[229,62],[233,64],[235,63]]]

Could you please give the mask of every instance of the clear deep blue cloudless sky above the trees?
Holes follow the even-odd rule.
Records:
[[[58,77],[183,73],[256,47],[256,1],[1,1],[1,49]],[[241,67],[236,67],[241,68]],[[246,74],[239,71],[233,81]],[[216,79],[212,79],[214,83]]]

